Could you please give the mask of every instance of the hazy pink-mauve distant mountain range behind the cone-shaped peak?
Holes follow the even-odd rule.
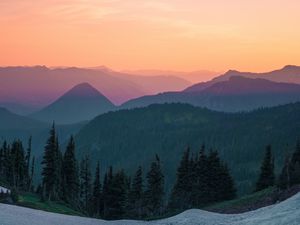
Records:
[[[0,106],[9,103],[42,108],[79,83],[93,84],[114,104],[147,94],[179,91],[191,85],[174,76],[136,77],[106,67],[0,67]]]

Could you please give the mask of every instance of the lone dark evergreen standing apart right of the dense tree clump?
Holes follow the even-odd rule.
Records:
[[[259,179],[256,183],[256,191],[273,186],[274,182],[274,158],[272,156],[271,145],[268,145],[266,147],[265,157],[260,168]]]

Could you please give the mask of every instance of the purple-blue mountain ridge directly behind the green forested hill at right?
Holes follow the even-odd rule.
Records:
[[[129,100],[122,108],[181,102],[217,111],[237,112],[296,101],[300,101],[300,84],[232,76],[228,80],[213,83],[199,91],[168,92]]]

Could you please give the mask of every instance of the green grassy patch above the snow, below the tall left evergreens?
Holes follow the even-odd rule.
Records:
[[[66,215],[83,216],[80,212],[77,212],[66,204],[61,202],[44,202],[40,200],[40,197],[35,194],[26,193],[19,196],[17,203],[19,206],[24,206],[32,209],[43,210],[47,212],[60,213]]]

